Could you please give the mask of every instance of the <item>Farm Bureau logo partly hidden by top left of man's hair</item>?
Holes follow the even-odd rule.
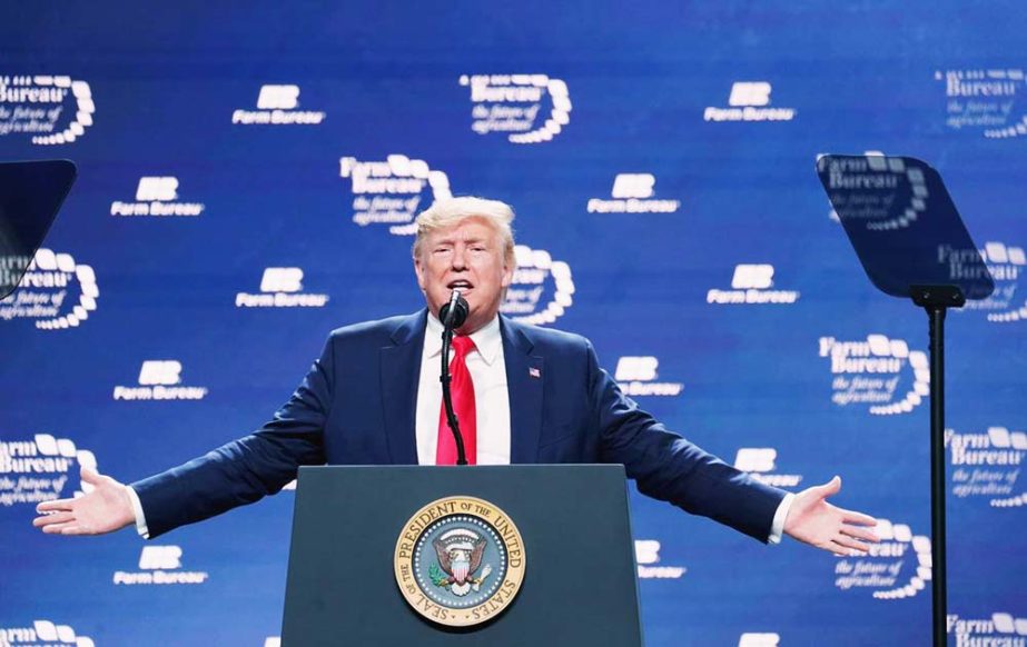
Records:
[[[358,161],[354,157],[338,160],[340,178],[352,179],[353,221],[361,227],[388,225],[395,236],[417,233],[414,217],[422,201],[452,198],[450,178],[428,168],[422,159],[391,155],[385,161]],[[424,200],[429,190],[428,199]]]

